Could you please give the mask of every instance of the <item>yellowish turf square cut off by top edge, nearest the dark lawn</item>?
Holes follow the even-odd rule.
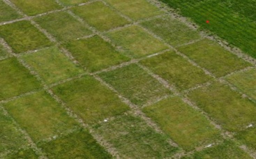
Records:
[[[141,20],[163,14],[156,6],[153,6],[146,0],[107,0],[107,2],[133,20]]]

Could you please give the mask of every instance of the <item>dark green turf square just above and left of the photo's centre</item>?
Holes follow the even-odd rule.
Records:
[[[129,58],[117,52],[110,43],[107,43],[98,36],[73,40],[66,43],[65,47],[89,72],[101,70],[129,60]]]

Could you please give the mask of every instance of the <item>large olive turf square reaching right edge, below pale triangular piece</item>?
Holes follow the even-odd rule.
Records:
[[[229,86],[216,82],[191,91],[188,97],[229,131],[237,132],[256,121],[255,103]]]

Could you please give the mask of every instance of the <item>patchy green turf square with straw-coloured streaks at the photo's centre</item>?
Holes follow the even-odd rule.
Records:
[[[153,102],[170,93],[136,64],[100,73],[100,77],[136,105]]]

